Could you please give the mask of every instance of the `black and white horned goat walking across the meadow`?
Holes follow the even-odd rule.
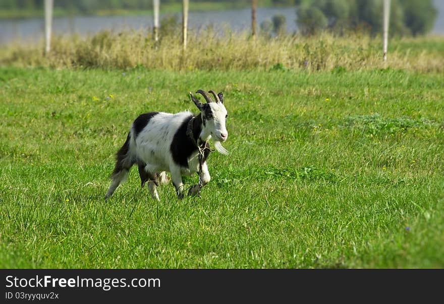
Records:
[[[210,153],[208,140],[213,139],[215,149],[227,155],[227,150],[220,144],[227,140],[225,126],[227,109],[223,102],[222,92],[215,94],[214,101],[202,90],[206,100],[202,104],[190,92],[191,100],[200,110],[193,115],[189,111],[177,114],[150,112],[134,120],[127,140],[116,154],[116,167],[111,175],[113,182],[106,192],[105,199],[111,196],[116,188],[128,177],[130,168],[137,164],[142,187],[148,182],[153,198],[159,200],[156,186],[169,181],[165,171],[171,173],[171,180],[176,187],[179,198],[183,197],[184,185],[182,174],[199,175],[199,183],[188,191],[196,195],[210,181],[206,159]]]

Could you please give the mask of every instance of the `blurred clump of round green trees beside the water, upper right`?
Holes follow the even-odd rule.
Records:
[[[347,26],[382,31],[382,0],[297,0],[297,24],[304,34]],[[426,34],[436,20],[432,0],[393,0],[390,9],[391,35]],[[319,18],[318,21],[315,19]]]

